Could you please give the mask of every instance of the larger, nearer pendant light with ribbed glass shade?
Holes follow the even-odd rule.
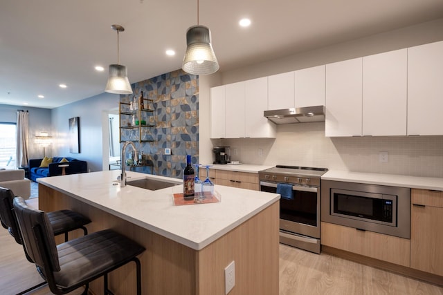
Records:
[[[186,53],[183,58],[183,70],[193,75],[210,75],[220,66],[210,43],[210,30],[199,25],[199,0],[197,0],[197,26],[186,32]]]

